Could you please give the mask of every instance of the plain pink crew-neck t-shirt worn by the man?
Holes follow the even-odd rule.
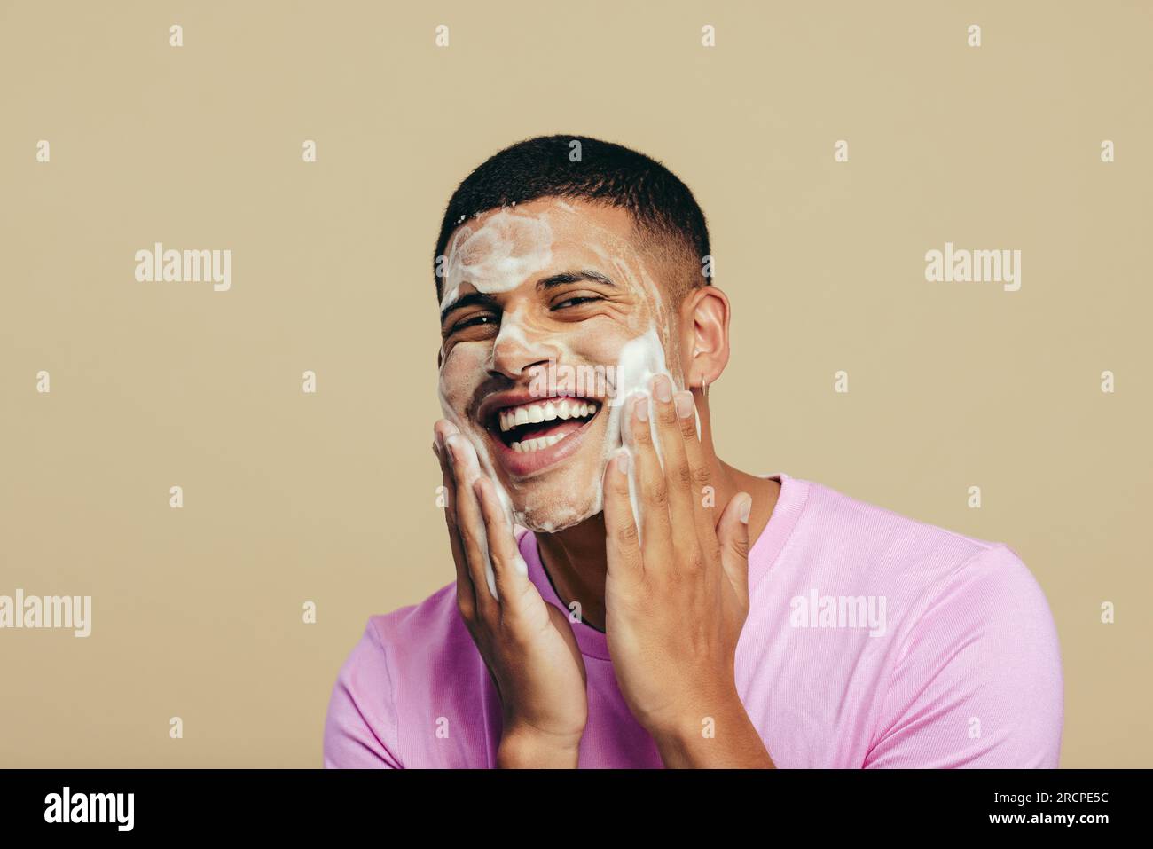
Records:
[[[749,553],[736,658],[738,694],[774,762],[1056,767],[1057,633],[1017,555],[774,478],[781,495]],[[520,550],[544,600],[566,610],[532,533]],[[662,766],[621,699],[604,633],[573,631],[588,671],[580,767]],[[326,767],[487,768],[499,741],[500,705],[454,584],[369,618],[332,691]]]

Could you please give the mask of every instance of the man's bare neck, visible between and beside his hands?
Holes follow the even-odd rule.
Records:
[[[758,478],[741,472],[710,452],[716,516],[729,501],[740,491],[753,496],[753,509],[748,518],[749,543],[764,531],[776,506],[781,484],[775,480]],[[571,604],[580,604],[581,621],[598,631],[604,631],[604,579],[608,573],[605,553],[604,516],[597,513],[579,525],[553,534],[536,534],[541,551],[541,564],[552,581],[562,602],[570,610]]]

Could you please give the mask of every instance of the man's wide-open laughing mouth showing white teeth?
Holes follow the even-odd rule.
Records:
[[[597,398],[535,398],[492,408],[484,426],[500,465],[522,478],[574,453],[602,406]]]

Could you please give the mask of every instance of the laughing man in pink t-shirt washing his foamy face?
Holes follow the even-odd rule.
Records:
[[[666,168],[512,145],[434,268],[457,580],[369,619],[326,766],[1057,765],[1056,631],[1009,548],[717,457],[730,303]]]

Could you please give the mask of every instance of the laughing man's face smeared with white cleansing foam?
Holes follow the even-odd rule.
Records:
[[[623,403],[656,374],[683,386],[665,284],[631,217],[542,198],[466,219],[445,254],[445,418],[519,524],[595,516]]]

